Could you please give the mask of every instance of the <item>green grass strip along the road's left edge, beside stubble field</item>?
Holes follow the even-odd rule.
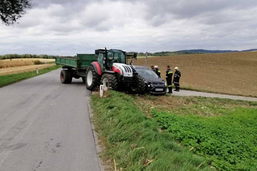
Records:
[[[48,68],[43,68],[38,70],[39,74],[36,74],[36,71],[24,72],[24,73],[17,73],[17,74],[10,74],[10,75],[2,75],[0,76],[0,87],[19,82],[23,79],[31,78],[37,75],[41,75],[52,70],[60,68],[61,65],[54,65]]]

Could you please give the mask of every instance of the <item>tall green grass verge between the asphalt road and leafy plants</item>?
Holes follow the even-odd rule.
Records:
[[[115,159],[118,169],[212,170],[204,157],[179,145],[173,133],[161,131],[155,119],[146,117],[134,105],[134,96],[111,91],[109,97],[99,98],[95,94],[91,99],[95,111],[92,122],[105,146],[101,157]],[[145,166],[147,159],[153,162]]]

